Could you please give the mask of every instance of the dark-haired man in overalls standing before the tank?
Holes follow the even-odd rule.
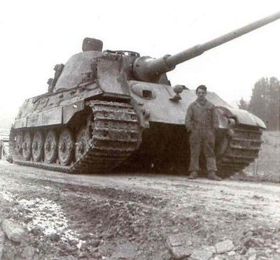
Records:
[[[216,175],[216,157],[214,154],[215,132],[218,129],[218,116],[214,104],[206,99],[207,87],[200,85],[196,89],[197,100],[190,104],[186,115],[186,128],[190,131],[190,175],[197,178],[200,170],[200,153],[206,157],[208,178],[221,180]]]

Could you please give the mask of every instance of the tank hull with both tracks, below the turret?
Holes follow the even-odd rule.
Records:
[[[10,132],[15,164],[66,173],[104,173],[115,168],[187,173],[190,147],[184,120],[186,109],[195,100],[195,92],[186,90],[181,94],[181,100],[174,102],[170,100],[174,92],[169,85],[134,80],[128,85],[130,98],[119,96],[118,101],[108,101],[112,99],[111,93],[104,92],[98,85],[88,85],[83,92],[65,89],[25,101]],[[66,99],[70,93],[72,98]],[[64,98],[60,102],[57,101],[61,99],[59,96]],[[231,108],[215,93],[209,92],[208,99],[216,105],[219,117],[216,157],[219,175],[225,178],[241,171],[258,157],[265,124],[246,111]],[[236,122],[232,136],[228,136],[230,118]],[[81,125],[88,131],[84,139],[79,137]],[[45,160],[45,143],[41,144],[43,156],[39,160],[34,160],[34,155],[24,156],[23,149],[28,143],[25,140],[19,144],[21,149],[16,149],[19,136],[27,132],[33,138],[29,141],[32,153],[36,146],[33,144],[36,131],[41,131],[42,142],[46,142],[50,130],[55,131],[58,139],[64,129],[69,129],[73,136],[72,150],[78,150],[79,140],[87,143],[80,158],[70,154],[68,165],[59,161],[58,143],[56,159],[52,162]],[[203,173],[203,155],[201,160]]]

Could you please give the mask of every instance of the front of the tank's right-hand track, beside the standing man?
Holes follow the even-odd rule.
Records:
[[[229,140],[225,153],[217,158],[218,175],[228,178],[244,170],[258,158],[262,143],[262,131],[258,127],[237,126],[235,134]]]

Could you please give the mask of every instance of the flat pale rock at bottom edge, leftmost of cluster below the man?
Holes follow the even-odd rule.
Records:
[[[167,238],[167,248],[172,252],[175,259],[189,257],[192,254],[192,245],[188,233],[179,233]]]

